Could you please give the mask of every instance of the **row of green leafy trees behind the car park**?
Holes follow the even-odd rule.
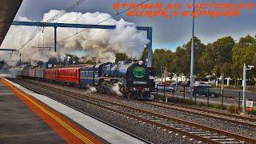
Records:
[[[167,71],[178,75],[190,76],[190,54],[191,39],[183,46],[178,46],[175,51],[156,49],[153,53],[154,73],[161,75],[161,66]],[[142,52],[141,60],[146,61],[147,50]],[[215,42],[203,44],[201,40],[194,37],[194,75],[198,79],[211,76],[212,79],[219,78],[224,74],[225,78],[233,78],[235,85],[237,80],[242,79],[242,67],[256,66],[256,35],[247,35],[238,42],[227,36],[218,38]],[[255,82],[256,70],[247,72],[250,82]]]

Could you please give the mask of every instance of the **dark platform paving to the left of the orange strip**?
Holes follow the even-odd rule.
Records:
[[[0,143],[65,143],[0,82]]]

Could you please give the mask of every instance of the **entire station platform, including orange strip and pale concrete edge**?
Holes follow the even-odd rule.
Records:
[[[143,143],[0,77],[0,143]]]

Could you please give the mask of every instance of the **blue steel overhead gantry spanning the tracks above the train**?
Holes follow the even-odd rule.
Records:
[[[51,22],[12,22],[15,26],[42,26],[42,27],[54,27],[54,50],[56,52],[57,46],[57,27],[68,27],[68,28],[87,28],[87,29],[115,29],[116,26],[108,25],[86,25],[86,24],[70,24],[70,23],[51,23]],[[152,27],[149,26],[136,26],[137,30],[145,30],[147,33],[147,38],[150,42],[147,44],[146,48],[148,50],[147,54],[147,66],[152,66]]]

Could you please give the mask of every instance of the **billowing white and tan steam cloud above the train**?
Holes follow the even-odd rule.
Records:
[[[42,22],[58,14],[60,10],[50,10],[43,15]],[[106,18],[110,18],[106,22]],[[19,21],[31,21],[26,17],[18,18]],[[49,58],[58,57],[62,54],[75,53],[78,57],[86,57],[88,59],[96,58],[100,62],[114,62],[114,53],[125,53],[131,58],[139,58],[142,54],[143,47],[149,42],[146,34],[136,30],[136,26],[132,22],[126,22],[122,18],[115,20],[110,14],[106,13],[76,13],[70,12],[58,18],[56,22],[62,23],[82,23],[82,24],[97,24],[114,25],[114,30],[98,30],[98,29],[76,29],[76,28],[58,28],[57,38],[61,41],[68,38],[81,30],[82,33],[76,34],[74,37],[68,38],[65,41],[58,42],[58,53],[54,53],[53,49],[38,51],[38,48],[33,46],[54,46],[54,28],[48,27],[38,34],[33,41],[27,44],[22,49],[22,61],[43,61],[46,62]],[[11,26],[2,47],[20,48],[30,35],[35,30],[33,26]],[[36,53],[37,52],[37,53]],[[34,54],[35,53],[35,54]],[[79,55],[80,54],[80,55]],[[1,58],[10,56],[0,53]],[[16,58],[16,57],[15,57]],[[18,57],[17,57],[18,58]]]

